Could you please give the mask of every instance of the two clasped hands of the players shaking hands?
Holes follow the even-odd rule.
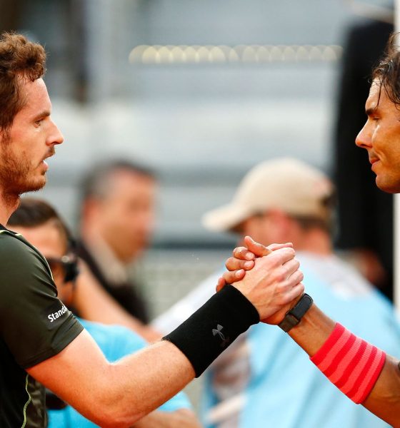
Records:
[[[216,291],[231,284],[256,307],[261,322],[279,324],[304,293],[303,274],[291,243],[265,247],[249,236],[226,260]]]

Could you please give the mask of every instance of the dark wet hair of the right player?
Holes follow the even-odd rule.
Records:
[[[400,107],[400,50],[396,44],[399,33],[391,34],[384,56],[372,71],[372,79],[379,81],[380,91],[384,89],[389,100]]]

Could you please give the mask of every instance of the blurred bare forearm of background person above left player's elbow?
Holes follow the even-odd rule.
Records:
[[[79,260],[79,276],[74,289],[73,305],[85,320],[103,324],[119,324],[133,330],[147,342],[159,340],[156,330],[144,325],[121,307],[97,282],[86,264]]]

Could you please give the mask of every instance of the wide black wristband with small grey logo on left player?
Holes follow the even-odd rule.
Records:
[[[251,302],[226,285],[163,340],[186,355],[199,377],[236,337],[259,320]]]

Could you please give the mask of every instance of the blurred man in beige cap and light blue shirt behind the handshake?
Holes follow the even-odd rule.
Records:
[[[266,245],[292,242],[306,292],[319,307],[357,335],[399,353],[400,327],[391,305],[332,252],[333,208],[330,180],[305,163],[283,158],[256,165],[231,203],[204,215],[204,225]],[[156,327],[174,327],[179,313],[196,310],[214,292],[218,276],[156,320]],[[387,427],[326,382],[304,352],[269,325],[251,327],[216,360],[204,399],[206,427]]]

